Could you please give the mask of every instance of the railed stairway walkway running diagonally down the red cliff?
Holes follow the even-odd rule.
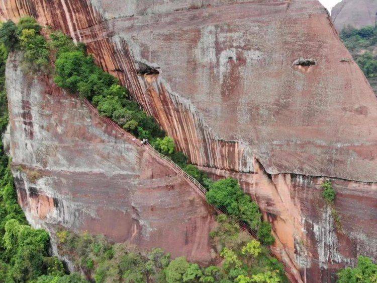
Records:
[[[176,173],[178,176],[180,176],[181,178],[183,178],[187,182],[187,184],[189,184],[190,187],[198,195],[200,195],[202,197],[202,199],[208,205],[210,205],[218,214],[225,214],[228,217],[231,217],[227,213],[227,211],[225,209],[223,209],[223,208],[217,208],[214,205],[212,205],[211,203],[209,203],[207,201],[207,198],[206,198],[206,193],[207,193],[206,188],[203,187],[203,185],[201,183],[199,183],[195,178],[193,178],[192,176],[190,176],[189,174],[187,174],[186,172],[184,172],[171,159],[169,159],[167,156],[164,156],[161,153],[159,153],[158,151],[156,151],[150,144],[148,144],[148,143],[147,144],[143,144],[138,138],[136,138],[134,135],[132,135],[131,133],[129,133],[126,130],[124,130],[122,127],[120,127],[117,123],[115,123],[111,119],[109,119],[107,117],[104,117],[104,116],[101,116],[101,114],[99,113],[99,111],[97,110],[97,108],[94,107],[86,98],[83,99],[83,102],[88,107],[88,109],[90,110],[91,114],[97,116],[103,123],[109,125],[112,128],[112,130],[120,133],[123,137],[125,137],[127,139],[128,142],[133,143],[133,144],[135,144],[136,146],[138,146],[140,148],[144,148],[159,163],[161,163],[161,164],[165,165],[166,167],[170,168],[171,170],[174,171],[174,173]],[[246,224],[244,224],[242,222],[238,222],[238,224],[239,224],[241,230],[247,232],[248,234],[251,235],[251,237],[257,239],[257,235],[256,235],[256,232],[254,230],[252,230],[250,227],[248,227]],[[272,254],[271,252],[270,252],[270,255],[276,258],[276,256],[274,254]],[[293,282],[293,283],[299,283],[299,281],[293,275],[293,273],[291,272],[291,270],[284,263],[283,263],[283,265],[284,265],[284,270],[286,271],[286,275],[287,275],[288,279],[291,282]]]

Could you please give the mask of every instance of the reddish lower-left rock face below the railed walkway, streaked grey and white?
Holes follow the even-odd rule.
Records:
[[[10,153],[28,221],[209,263],[213,213],[187,182],[18,59],[6,73]]]

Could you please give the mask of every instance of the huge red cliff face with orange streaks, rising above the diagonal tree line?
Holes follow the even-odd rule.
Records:
[[[298,278],[327,282],[361,253],[377,259],[377,100],[317,1],[0,5],[85,42],[192,163],[239,179]]]

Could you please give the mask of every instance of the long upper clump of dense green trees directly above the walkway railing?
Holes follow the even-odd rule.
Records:
[[[154,118],[129,99],[128,90],[118,80],[98,67],[82,45],[74,45],[60,32],[51,36],[51,48],[56,54],[55,82],[87,98],[100,114],[112,118],[139,138],[147,138],[164,154],[171,155],[175,145],[164,135]]]

